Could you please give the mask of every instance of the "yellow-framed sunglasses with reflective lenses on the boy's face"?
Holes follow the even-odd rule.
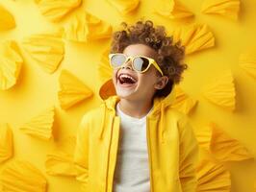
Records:
[[[157,64],[157,62],[151,58],[147,58],[144,56],[126,56],[124,54],[110,54],[109,55],[109,59],[110,59],[110,63],[111,66],[113,68],[120,68],[122,67],[124,64],[126,64],[128,62],[128,60],[132,61],[132,68],[135,71],[138,71],[139,73],[144,73],[146,72],[149,67],[151,66],[151,64],[154,65],[154,67],[156,67],[156,69],[161,73],[161,75],[163,76],[164,73],[161,70],[161,68],[159,67],[159,65]]]

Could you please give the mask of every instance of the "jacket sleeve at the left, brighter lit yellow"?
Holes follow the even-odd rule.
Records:
[[[82,183],[82,191],[89,192],[89,123],[84,115],[77,131],[76,147],[74,151],[74,164],[76,168],[76,180]]]

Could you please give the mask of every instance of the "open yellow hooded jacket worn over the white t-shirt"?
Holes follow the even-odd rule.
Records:
[[[171,108],[172,91],[154,99],[146,118],[150,192],[194,192],[198,145],[185,114]],[[79,125],[74,162],[85,192],[113,192],[120,119],[117,96],[86,113]]]

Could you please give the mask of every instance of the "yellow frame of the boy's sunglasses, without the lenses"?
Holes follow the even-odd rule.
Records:
[[[127,60],[131,59],[131,61],[132,61],[132,67],[133,67],[134,70],[136,70],[135,67],[134,67],[134,60],[135,60],[136,58],[139,58],[139,57],[140,57],[140,58],[144,58],[144,59],[148,60],[148,61],[149,61],[149,64],[148,64],[148,66],[147,66],[143,71],[138,71],[138,70],[136,70],[136,71],[138,71],[139,73],[144,73],[144,72],[146,72],[146,71],[149,69],[149,67],[151,66],[151,64],[153,64],[154,67],[161,73],[161,75],[164,76],[164,73],[163,73],[163,71],[161,70],[161,68],[160,68],[160,66],[158,65],[158,63],[156,62],[156,60],[151,59],[151,58],[147,58],[147,57],[145,57],[145,56],[126,56],[125,54],[122,54],[122,53],[110,54],[110,55],[109,55],[109,60],[110,60],[110,65],[111,65],[112,68],[115,68],[115,67],[112,66],[112,64],[111,64],[111,59],[112,59],[113,56],[116,56],[116,55],[123,55],[123,56],[125,56],[125,58],[126,58],[126,60],[123,62],[123,64],[120,65],[120,66],[118,66],[118,67],[116,67],[116,68],[121,68],[124,64],[126,64]]]

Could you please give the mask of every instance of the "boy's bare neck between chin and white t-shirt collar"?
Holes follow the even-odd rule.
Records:
[[[145,116],[152,108],[153,103],[149,101],[131,101],[126,99],[120,99],[119,107],[127,115],[141,118]]]

